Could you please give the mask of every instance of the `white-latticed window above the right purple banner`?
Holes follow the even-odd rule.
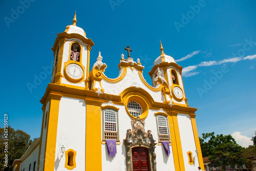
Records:
[[[157,116],[159,141],[170,141],[167,127],[167,118],[165,116]]]

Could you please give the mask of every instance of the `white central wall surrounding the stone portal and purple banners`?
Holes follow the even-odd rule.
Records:
[[[122,171],[126,170],[126,152],[123,139],[126,137],[127,129],[132,129],[131,117],[126,113],[125,107],[120,105],[114,105],[119,108],[118,111],[118,122],[119,122],[119,140],[120,145],[117,146],[117,154],[111,159],[109,157],[108,148],[106,144],[101,145],[102,150],[102,171]],[[149,110],[148,115],[145,119],[145,131],[151,130],[156,143],[158,142],[157,134],[157,123],[155,114],[157,111]],[[101,129],[102,130],[102,129]],[[165,150],[162,145],[156,145],[155,149],[156,160],[157,160],[157,170],[175,170],[174,167],[174,158],[172,146],[170,146],[170,155],[167,157]],[[151,162],[150,162],[151,163]]]

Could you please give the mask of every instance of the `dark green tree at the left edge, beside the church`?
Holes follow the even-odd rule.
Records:
[[[12,163],[15,159],[20,159],[31,145],[30,135],[22,130],[14,130],[11,126],[7,129],[0,128],[0,170],[12,170]],[[8,140],[6,140],[8,139]],[[7,150],[8,146],[8,150]],[[5,166],[4,157],[8,155],[8,165]]]

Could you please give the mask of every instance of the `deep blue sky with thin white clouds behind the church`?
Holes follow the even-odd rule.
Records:
[[[255,7],[255,1],[1,1],[1,113],[13,128],[40,136],[39,100],[51,80],[43,67],[52,65],[56,34],[72,24],[76,10],[77,26],[95,43],[90,69],[100,51],[105,75],[116,78],[130,45],[152,84],[148,71],[161,39],[164,53],[183,66],[199,135],[232,134],[246,146],[256,130]],[[35,77],[43,79],[29,89]]]

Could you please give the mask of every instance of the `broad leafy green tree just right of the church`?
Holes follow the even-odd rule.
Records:
[[[231,135],[214,135],[215,133],[202,134],[200,144],[203,157],[208,157],[209,166],[221,166],[226,170],[226,166],[242,166],[247,163],[247,159],[242,155],[242,146]],[[208,139],[208,141],[206,141]]]

